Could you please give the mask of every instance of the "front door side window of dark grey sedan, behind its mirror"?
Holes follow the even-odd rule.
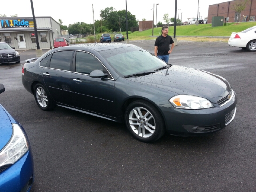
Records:
[[[91,54],[76,52],[76,72],[90,74],[94,70],[103,71],[102,64]]]

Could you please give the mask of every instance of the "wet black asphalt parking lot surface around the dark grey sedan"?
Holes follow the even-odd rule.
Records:
[[[130,44],[154,52],[154,40]],[[58,106],[40,110],[21,81],[22,65],[35,50],[19,52],[20,64],[0,64],[6,88],[0,103],[29,137],[32,192],[256,191],[256,52],[222,42],[178,42],[169,63],[228,80],[238,97],[236,117],[211,136],[164,135],[153,144],[132,138],[124,124]]]

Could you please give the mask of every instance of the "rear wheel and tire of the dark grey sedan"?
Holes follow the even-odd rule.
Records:
[[[44,111],[49,111],[54,108],[52,98],[42,84],[38,83],[34,87],[34,97],[36,100],[36,104],[39,106],[40,109]]]

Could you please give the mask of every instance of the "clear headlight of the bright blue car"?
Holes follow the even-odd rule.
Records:
[[[28,151],[28,142],[20,126],[13,123],[12,130],[12,138],[0,152],[0,167],[14,164]]]

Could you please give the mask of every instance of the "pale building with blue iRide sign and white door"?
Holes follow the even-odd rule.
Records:
[[[40,49],[53,48],[54,39],[61,34],[60,25],[52,17],[36,17]],[[18,49],[36,49],[32,17],[0,17],[0,42]]]

